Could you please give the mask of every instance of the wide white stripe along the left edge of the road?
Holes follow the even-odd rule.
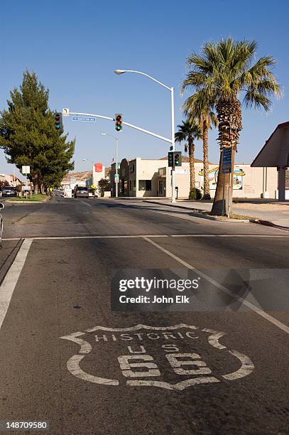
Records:
[[[21,248],[16,255],[9,271],[7,272],[4,281],[0,286],[0,328],[6,316],[13,291],[16,287],[18,278],[21,274],[21,270],[26,261],[27,254],[31,247],[32,239],[25,239],[21,245]]]

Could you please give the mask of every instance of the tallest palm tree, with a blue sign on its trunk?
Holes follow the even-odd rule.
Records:
[[[280,95],[280,87],[270,67],[276,62],[271,56],[253,59],[256,55],[255,41],[234,41],[232,38],[219,43],[206,43],[202,53],[192,53],[187,59],[190,71],[182,82],[182,90],[193,87],[195,94],[190,103],[197,113],[203,107],[215,107],[219,126],[218,141],[221,147],[219,176],[217,181],[212,214],[222,213],[222,186],[229,184],[229,174],[222,173],[222,150],[232,150],[232,171],[234,154],[242,129],[241,102],[244,96],[245,107],[254,106],[268,111],[270,97]],[[225,189],[225,210],[228,213],[229,189]],[[231,177],[230,198],[233,192]]]

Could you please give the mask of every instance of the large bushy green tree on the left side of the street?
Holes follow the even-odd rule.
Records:
[[[74,168],[72,159],[75,140],[67,141],[63,131],[57,131],[53,112],[48,107],[49,91],[38,82],[36,73],[23,73],[18,90],[14,87],[7,100],[8,109],[1,112],[0,146],[9,163],[18,169],[31,167],[28,176],[34,190],[58,183]]]

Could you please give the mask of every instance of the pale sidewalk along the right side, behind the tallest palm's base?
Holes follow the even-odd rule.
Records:
[[[209,212],[212,208],[212,201],[190,201],[190,200],[177,200],[175,204],[172,204],[169,199],[146,198],[143,200],[147,203],[154,203],[160,205],[168,205],[170,207],[185,208],[187,210],[196,211],[196,213],[202,213],[204,211]],[[289,229],[289,202],[278,203],[276,201],[263,202],[256,200],[248,200],[248,202],[233,203],[232,213],[238,215],[250,216],[252,219],[257,218],[263,222],[263,225],[276,225],[278,227],[286,227]]]

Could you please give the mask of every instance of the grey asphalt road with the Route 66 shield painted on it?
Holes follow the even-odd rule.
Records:
[[[49,425],[4,433],[289,433],[289,232],[131,200],[3,216],[0,421]],[[200,287],[111,310],[154,275]]]

